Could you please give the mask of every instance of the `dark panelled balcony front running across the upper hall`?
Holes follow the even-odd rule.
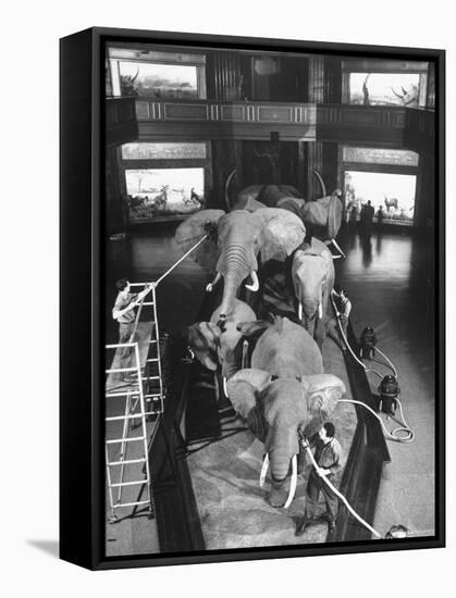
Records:
[[[429,145],[434,112],[396,105],[136,98],[138,139],[252,139],[367,142],[418,150]]]

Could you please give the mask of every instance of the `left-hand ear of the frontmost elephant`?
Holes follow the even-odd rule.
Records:
[[[239,370],[227,381],[227,396],[243,420],[247,420],[251,410],[256,408],[257,393],[266,388],[270,381],[269,372],[254,367]]]

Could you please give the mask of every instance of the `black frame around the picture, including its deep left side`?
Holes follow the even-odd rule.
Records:
[[[435,535],[237,550],[104,556],[103,194],[104,45],[110,40],[275,50],[435,64]],[[60,43],[60,557],[91,569],[343,555],[445,546],[445,52],[435,49],[89,28]],[[185,497],[184,497],[185,498]],[[188,497],[187,497],[188,498]],[[190,498],[189,498],[190,500]],[[188,537],[198,546],[188,522]]]

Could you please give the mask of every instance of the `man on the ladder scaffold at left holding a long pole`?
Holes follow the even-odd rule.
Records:
[[[119,290],[114,307],[112,308],[112,317],[119,322],[119,345],[124,342],[134,342],[132,338],[135,327],[135,307],[150,290],[147,286],[141,292],[133,295],[130,292],[130,282],[121,278],[115,283]],[[133,347],[123,347],[120,350],[120,366],[122,369],[132,367]],[[130,372],[121,372],[121,381],[132,382]]]

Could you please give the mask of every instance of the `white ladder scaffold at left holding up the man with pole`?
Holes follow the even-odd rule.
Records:
[[[133,286],[133,285],[132,285]],[[135,286],[145,286],[135,284]],[[146,322],[140,314],[146,313]],[[139,303],[130,342],[107,345],[106,470],[110,515],[115,523],[148,510],[153,515],[149,449],[164,407],[161,341],[155,286]],[[113,353],[113,359],[112,358]],[[131,508],[130,514],[125,509]],[[123,509],[123,511],[119,511]]]

